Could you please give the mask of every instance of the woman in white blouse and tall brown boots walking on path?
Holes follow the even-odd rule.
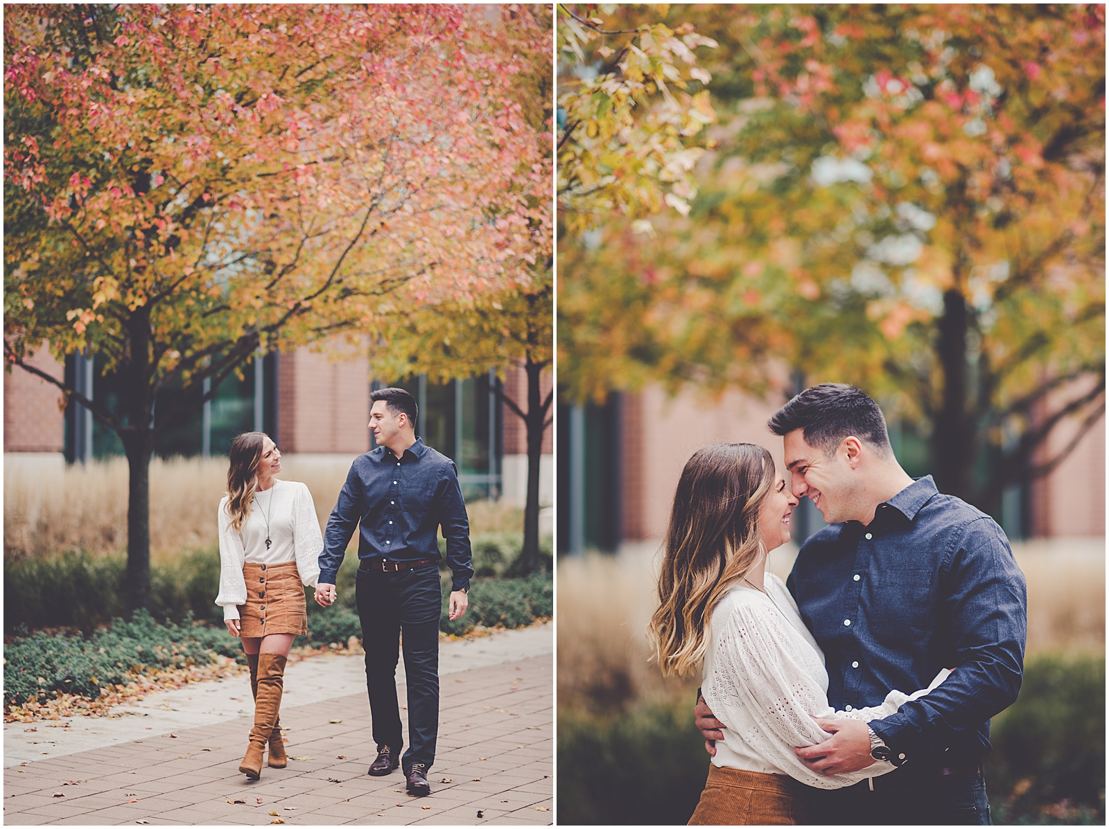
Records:
[[[231,444],[227,495],[220,502],[220,595],[224,623],[243,641],[254,693],[254,727],[238,770],[256,780],[287,765],[278,709],[293,639],[308,632],[304,587],[319,577],[324,539],[303,483],[278,481],[281,452],[262,432]]]

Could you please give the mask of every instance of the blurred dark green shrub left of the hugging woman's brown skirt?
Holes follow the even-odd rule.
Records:
[[[613,717],[559,710],[559,823],[684,825],[708,774],[691,699]]]

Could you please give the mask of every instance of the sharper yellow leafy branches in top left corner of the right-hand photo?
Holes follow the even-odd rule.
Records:
[[[558,3],[556,11],[563,64],[557,192],[570,234],[612,215],[642,222],[665,206],[689,213],[700,139],[715,117],[703,89],[710,75],[695,53],[715,48],[712,39],[689,23],[670,29],[651,20],[653,11],[615,27],[597,12],[588,3]]]

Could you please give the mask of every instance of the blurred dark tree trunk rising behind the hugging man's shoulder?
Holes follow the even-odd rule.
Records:
[[[944,376],[943,402],[933,431],[936,487],[940,492],[971,498],[974,440],[967,417],[967,307],[963,293],[944,294],[944,316],[939,320],[939,365]]]

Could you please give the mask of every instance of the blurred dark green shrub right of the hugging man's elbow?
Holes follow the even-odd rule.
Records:
[[[994,718],[986,788],[997,823],[1106,820],[1105,656],[1041,656]]]

